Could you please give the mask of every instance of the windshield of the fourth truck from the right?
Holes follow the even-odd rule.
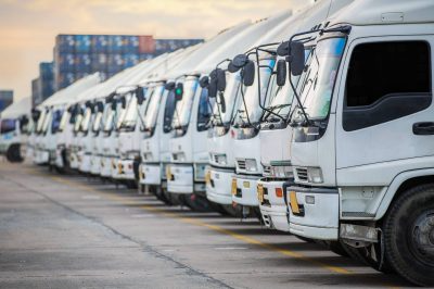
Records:
[[[225,91],[217,93],[217,100],[213,105],[213,114],[217,117],[217,125],[228,124],[232,120],[238,93],[241,87],[241,76],[239,72],[226,72],[226,79]]]

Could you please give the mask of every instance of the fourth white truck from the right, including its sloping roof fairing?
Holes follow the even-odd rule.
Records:
[[[246,28],[242,34],[228,41],[233,48],[230,56],[244,52],[255,46],[258,35],[267,37],[277,27],[282,29],[291,17],[290,12],[283,12]],[[273,33],[271,33],[273,34]],[[222,62],[221,64],[227,64]],[[233,139],[230,125],[241,100],[240,73],[229,73],[225,70],[226,87],[218,92],[218,100],[214,104],[214,115],[207,134],[209,166],[206,169],[206,198],[222,205],[232,205],[231,181],[235,174],[235,159],[233,156]]]

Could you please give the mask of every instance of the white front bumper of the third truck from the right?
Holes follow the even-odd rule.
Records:
[[[231,181],[232,202],[241,205],[258,206],[256,186],[259,176],[235,175]]]

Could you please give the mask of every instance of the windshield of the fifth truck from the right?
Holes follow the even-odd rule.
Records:
[[[174,127],[184,127],[189,124],[197,86],[197,77],[188,77],[183,81],[182,99],[176,103]]]

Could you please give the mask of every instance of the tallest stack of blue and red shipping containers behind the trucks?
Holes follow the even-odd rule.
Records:
[[[143,60],[201,41],[203,39],[154,39],[151,35],[58,35],[55,89],[95,72],[106,79]]]

